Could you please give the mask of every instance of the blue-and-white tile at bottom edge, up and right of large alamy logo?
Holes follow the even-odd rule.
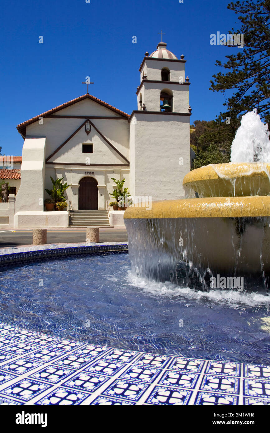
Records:
[[[89,397],[89,394],[85,392],[59,387],[40,400],[35,401],[35,404],[71,406],[81,404],[87,397]]]

